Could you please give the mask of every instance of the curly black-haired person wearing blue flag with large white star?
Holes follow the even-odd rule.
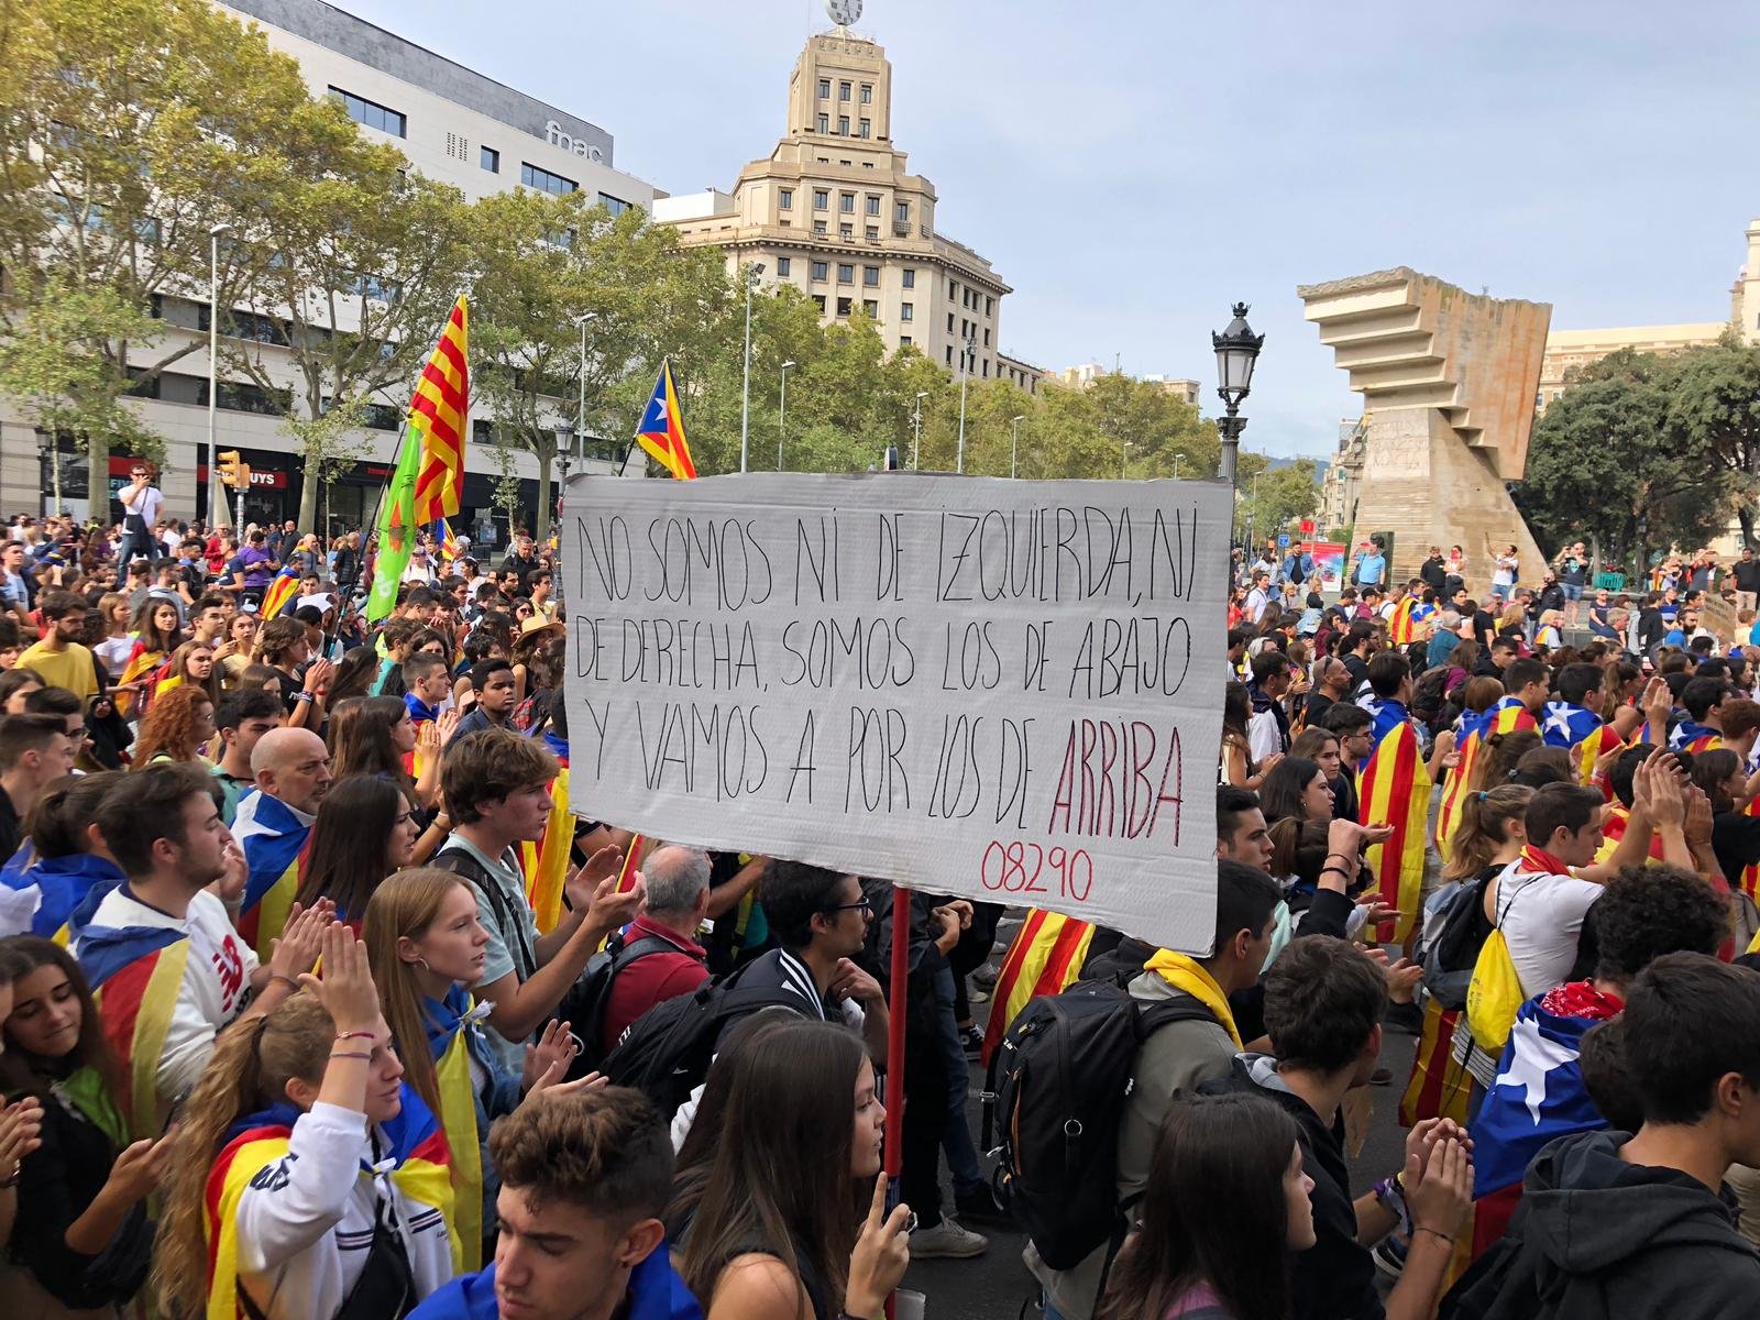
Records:
[[[1554,1137],[1605,1128],[1582,1082],[1582,1037],[1624,1008],[1626,987],[1663,954],[1718,952],[1730,906],[1700,876],[1676,866],[1633,866],[1595,905],[1596,964],[1515,1014],[1496,1081],[1473,1116],[1473,1255],[1498,1237],[1522,1195],[1522,1174]]]

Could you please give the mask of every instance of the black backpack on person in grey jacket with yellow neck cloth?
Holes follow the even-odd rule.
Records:
[[[1144,1008],[1114,982],[1079,980],[1028,1001],[991,1054],[984,1148],[1000,1128],[996,1195],[1051,1269],[1125,1241],[1118,1132],[1137,1051],[1199,1019],[1214,1014],[1188,994]]]

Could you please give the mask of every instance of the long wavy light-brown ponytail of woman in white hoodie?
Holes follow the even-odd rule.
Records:
[[[336,1024],[312,994],[301,991],[266,1014],[252,1014],[215,1040],[178,1114],[176,1148],[153,1253],[158,1309],[172,1316],[208,1313],[208,1177],[220,1140],[245,1114],[287,1096],[287,1082],[324,1075]]]

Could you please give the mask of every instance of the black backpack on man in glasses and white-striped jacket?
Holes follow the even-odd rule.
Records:
[[[715,1044],[729,1023],[760,1008],[803,1010],[801,996],[781,986],[739,986],[743,973],[656,1003],[625,1028],[598,1070],[612,1086],[639,1089],[671,1119],[709,1075]]]

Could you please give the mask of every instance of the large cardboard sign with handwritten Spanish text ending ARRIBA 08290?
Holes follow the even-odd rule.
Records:
[[[1207,950],[1227,488],[588,477],[568,510],[579,811]]]

